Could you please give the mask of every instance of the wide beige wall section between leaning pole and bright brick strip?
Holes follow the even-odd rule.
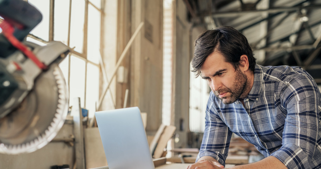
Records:
[[[157,131],[162,112],[162,0],[133,0],[131,32],[143,21],[130,56],[130,106],[147,113],[147,131]]]

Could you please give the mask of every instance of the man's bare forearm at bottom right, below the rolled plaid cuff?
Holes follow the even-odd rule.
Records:
[[[287,169],[287,167],[274,156],[269,156],[255,163],[237,165],[230,169]]]

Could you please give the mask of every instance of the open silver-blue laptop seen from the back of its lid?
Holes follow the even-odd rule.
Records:
[[[109,169],[154,169],[138,107],[95,112]]]

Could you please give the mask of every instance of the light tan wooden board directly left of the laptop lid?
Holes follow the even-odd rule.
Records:
[[[85,129],[85,153],[86,168],[108,165],[98,127]]]

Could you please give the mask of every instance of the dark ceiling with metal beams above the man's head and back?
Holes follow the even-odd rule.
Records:
[[[321,0],[184,2],[195,25],[232,26],[243,33],[258,64],[301,66],[321,84]]]

